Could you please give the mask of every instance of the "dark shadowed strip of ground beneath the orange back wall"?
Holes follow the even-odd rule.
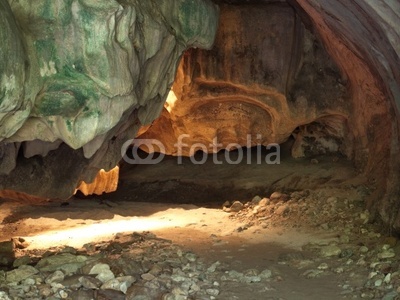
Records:
[[[291,136],[281,145],[208,154],[197,150],[185,157],[149,154],[134,146],[121,161],[117,191],[101,197],[221,208],[227,202],[244,204],[274,192],[290,195],[354,177],[351,163],[340,153],[294,159],[294,142]]]

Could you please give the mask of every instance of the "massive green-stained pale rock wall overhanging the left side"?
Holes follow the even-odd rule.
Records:
[[[0,190],[66,198],[162,110],[209,0],[0,0]]]

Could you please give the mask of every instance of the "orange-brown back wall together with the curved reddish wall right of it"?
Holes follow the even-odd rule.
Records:
[[[190,155],[197,143],[217,151],[214,138],[226,148],[254,145],[248,134],[264,145],[294,135],[295,157],[352,159],[369,178],[367,206],[400,230],[400,4],[219,2],[215,47],[185,54],[162,117],[141,137],[177,155],[189,134]]]

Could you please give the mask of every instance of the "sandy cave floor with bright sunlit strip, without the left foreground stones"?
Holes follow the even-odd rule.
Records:
[[[207,266],[218,262],[218,293],[188,299],[396,299],[400,243],[365,211],[372,189],[340,157],[279,165],[177,165],[169,157],[122,166],[119,190],[108,195],[0,199],[1,240],[22,237],[28,247],[16,256],[36,263],[48,250],[90,255],[79,249],[151,232]],[[283,195],[263,199],[275,191]],[[244,204],[237,212],[222,209],[235,200]],[[248,279],[265,269],[269,278]]]

